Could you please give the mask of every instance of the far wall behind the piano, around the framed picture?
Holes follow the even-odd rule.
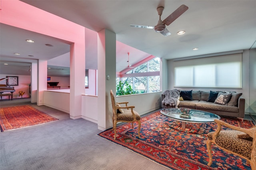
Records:
[[[22,96],[22,98],[28,98],[30,97],[30,93],[29,93],[29,84],[30,84],[30,75],[5,75],[5,74],[0,74],[0,78],[6,78],[6,76],[18,76],[18,86],[12,86],[14,87],[14,92],[13,92],[13,98],[21,98],[21,96],[19,96],[19,91],[24,91],[24,95]],[[5,84],[6,85],[6,81],[0,81],[0,84]],[[7,92],[6,92],[7,93]],[[8,96],[3,96],[2,99],[8,99]]]

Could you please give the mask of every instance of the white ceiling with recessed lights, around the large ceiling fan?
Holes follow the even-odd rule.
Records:
[[[130,52],[130,64],[150,54],[166,59],[256,48],[256,1],[255,0],[22,0],[32,6],[80,24],[88,30],[87,36],[96,36],[96,32],[108,29],[116,33],[117,38],[117,71],[127,65],[127,52]],[[162,20],[169,16],[180,5],[185,4],[188,10],[177,20],[166,26],[172,33],[164,37],[153,29],[134,28],[130,24],[155,26],[158,22],[156,8],[164,6]],[[27,55],[41,58],[54,58],[62,55],[64,64],[69,63],[69,42],[56,38],[38,35],[18,28],[0,25],[1,32],[1,74],[2,61],[15,59],[14,49]],[[177,35],[180,30],[186,34]],[[22,34],[20,34],[22,33]],[[15,35],[16,37],[14,37]],[[26,37],[24,35],[27,35]],[[40,46],[28,48],[24,39],[29,35],[37,36]],[[24,37],[22,37],[24,36]],[[16,40],[20,37],[20,40]],[[5,40],[10,40],[9,43]],[[88,39],[87,39],[88,40]],[[97,67],[94,57],[97,55],[96,39],[89,39],[86,47],[86,68]],[[26,43],[26,47],[24,47]],[[54,50],[45,46],[54,43]],[[128,45],[118,49],[118,45]],[[15,45],[15,48],[14,46]],[[130,46],[130,47],[129,47]],[[194,51],[192,48],[198,47]],[[137,50],[139,49],[139,50]],[[33,52],[33,54],[31,54]],[[35,54],[34,54],[35,52]],[[47,52],[47,53],[46,53]],[[19,52],[21,53],[21,52]],[[139,54],[140,53],[140,54]],[[88,55],[90,54],[90,55]],[[64,59],[66,56],[66,59]],[[21,57],[21,56],[19,56]],[[60,61],[59,59],[56,59]],[[28,62],[29,63],[29,62]],[[54,59],[48,61],[54,65]],[[64,66],[64,65],[61,65]],[[66,67],[66,66],[64,66]]]

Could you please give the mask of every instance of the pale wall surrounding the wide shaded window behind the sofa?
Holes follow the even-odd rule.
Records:
[[[214,54],[213,54],[214,56]],[[196,56],[194,56],[196,58]],[[250,112],[250,91],[249,84],[252,79],[249,78],[250,72],[252,72],[252,68],[249,67],[250,59],[250,51],[243,50],[242,52],[242,89],[220,89],[220,88],[178,88],[183,90],[203,90],[203,91],[236,91],[238,93],[242,93],[242,97],[245,99],[245,112]],[[174,60],[168,60],[168,89],[174,89]],[[200,64],[200,63],[199,63]],[[254,84],[255,85],[255,84]],[[255,95],[254,95],[255,100]]]

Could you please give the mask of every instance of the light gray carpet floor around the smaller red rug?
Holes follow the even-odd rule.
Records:
[[[37,106],[29,99],[1,101],[1,107],[30,104],[60,120],[0,132],[0,170],[165,170],[122,146],[96,136],[97,124]]]

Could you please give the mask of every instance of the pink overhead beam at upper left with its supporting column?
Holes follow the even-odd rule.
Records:
[[[1,3],[1,23],[70,42],[70,118],[81,118],[81,95],[84,94],[82,80],[85,76],[85,28],[19,0],[2,0]],[[78,74],[74,75],[75,72]],[[40,77],[38,79],[41,80]],[[43,85],[38,84],[40,99],[43,99],[42,90],[47,88]]]

